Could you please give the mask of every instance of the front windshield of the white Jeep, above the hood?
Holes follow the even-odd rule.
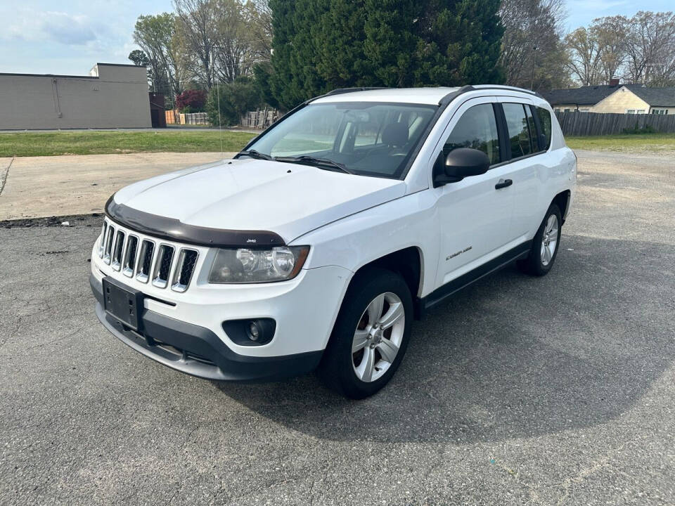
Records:
[[[381,102],[310,104],[272,126],[248,150],[320,158],[353,174],[399,178],[436,110]]]

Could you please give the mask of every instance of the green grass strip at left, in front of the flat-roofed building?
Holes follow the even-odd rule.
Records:
[[[58,131],[0,134],[0,157],[239,151],[255,134],[237,131]]]

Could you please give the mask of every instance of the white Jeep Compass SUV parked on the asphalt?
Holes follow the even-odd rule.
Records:
[[[510,261],[551,269],[575,182],[531,91],[336,90],[233,160],[115,193],[91,255],[96,313],[191,375],[318,368],[363,398],[394,375],[425,309]]]

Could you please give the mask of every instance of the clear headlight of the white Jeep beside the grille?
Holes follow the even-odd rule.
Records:
[[[272,249],[219,249],[209,283],[271,283],[295,278],[307,259],[309,246]]]

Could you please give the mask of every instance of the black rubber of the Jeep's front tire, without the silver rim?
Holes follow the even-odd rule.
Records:
[[[352,280],[349,290],[345,294],[345,299],[342,301],[342,307],[333,327],[333,334],[330,337],[326,353],[324,353],[324,361],[321,367],[324,379],[330,386],[351,398],[371,396],[389,382],[398,369],[408,347],[413,320],[412,296],[408,285],[400,275],[385,269],[372,269],[359,273],[358,276],[358,278]],[[373,382],[363,382],[356,376],[352,363],[354,330],[356,330],[356,326],[359,324],[368,304],[379,294],[385,292],[396,294],[404,306],[405,325],[401,346],[399,346],[399,352],[394,358],[394,363],[390,365],[382,377]]]

